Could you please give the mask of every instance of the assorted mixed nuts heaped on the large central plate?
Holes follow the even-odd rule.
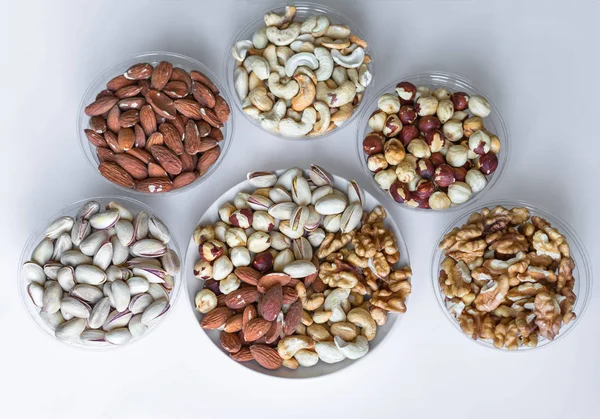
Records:
[[[320,167],[307,172],[250,173],[257,189],[194,231],[201,326],[222,330],[236,361],[295,369],[357,359],[388,312],[406,311],[411,270],[396,268],[385,210],[364,211],[355,181],[346,193]]]

